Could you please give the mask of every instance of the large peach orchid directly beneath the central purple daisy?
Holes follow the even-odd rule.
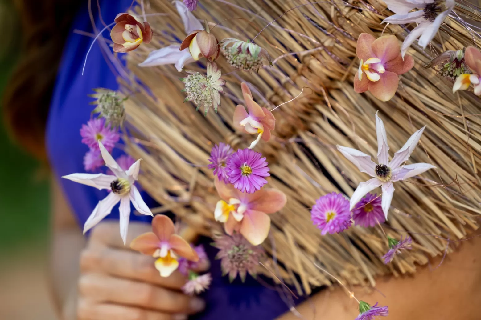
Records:
[[[215,179],[215,188],[222,200],[215,206],[215,220],[224,222],[226,233],[240,232],[253,246],[266,239],[270,229],[268,213],[275,213],[286,204],[286,195],[279,190],[263,188],[254,193],[241,192],[231,184]]]

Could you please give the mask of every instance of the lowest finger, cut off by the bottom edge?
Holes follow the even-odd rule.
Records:
[[[80,299],[77,308],[78,320],[186,320],[186,315],[171,315],[158,311],[121,306],[110,303],[97,303]]]

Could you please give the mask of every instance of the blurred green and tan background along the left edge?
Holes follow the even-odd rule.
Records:
[[[0,0],[0,104],[9,76],[25,54],[20,2]],[[57,318],[47,273],[49,169],[10,139],[3,107],[0,105],[0,319],[53,320]]]

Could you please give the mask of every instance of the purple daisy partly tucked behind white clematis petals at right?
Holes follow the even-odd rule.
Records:
[[[381,207],[381,197],[368,193],[361,201],[357,202],[353,210],[353,219],[356,225],[363,227],[375,226],[386,221]]]

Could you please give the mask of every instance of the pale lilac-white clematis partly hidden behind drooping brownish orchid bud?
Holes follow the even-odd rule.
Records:
[[[187,9],[185,4],[176,0],[175,5],[180,18],[184,23],[186,34],[190,34],[194,30],[204,29],[199,20]],[[177,71],[180,72],[186,64],[194,62],[194,59],[190,55],[189,48],[182,51],[179,49],[180,43],[153,50],[149,53],[149,56],[147,56],[145,61],[139,63],[139,67],[155,67],[165,64],[175,64]]]

